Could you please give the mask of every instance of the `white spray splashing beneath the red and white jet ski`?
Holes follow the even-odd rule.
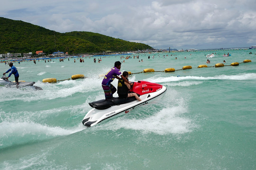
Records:
[[[170,95],[172,94],[172,95]],[[95,129],[108,129],[108,130],[118,130],[120,128],[140,130],[142,133],[155,133],[158,135],[165,134],[183,134],[191,132],[194,127],[197,127],[192,119],[184,116],[188,112],[187,100],[182,97],[183,94],[177,93],[174,90],[169,90],[162,101],[170,100],[173,102],[162,102],[162,109],[155,109],[158,111],[153,111],[153,113],[146,113],[146,107],[150,107],[151,110],[154,110],[154,107],[159,107],[159,104],[149,103],[150,106],[144,105],[139,106],[132,110],[129,114],[134,114],[135,116],[131,119],[128,116],[124,115],[117,119],[112,119],[105,124],[101,124]],[[158,101],[159,103],[159,101]],[[148,116],[142,116],[141,113],[138,113],[138,110],[141,110],[141,107],[144,107],[142,112]],[[160,106],[161,107],[161,106]],[[137,116],[136,116],[137,115]],[[142,118],[141,118],[142,117]]]

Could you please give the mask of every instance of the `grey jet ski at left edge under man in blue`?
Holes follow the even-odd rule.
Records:
[[[0,86],[5,87],[13,87],[13,88],[32,88],[34,90],[43,90],[41,87],[34,86],[35,82],[19,82],[18,85],[16,85],[15,82],[11,82],[8,79],[6,79],[6,76],[3,75],[0,78]]]

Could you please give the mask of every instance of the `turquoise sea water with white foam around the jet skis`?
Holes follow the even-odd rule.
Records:
[[[206,64],[205,55],[212,52],[215,58],[208,66],[224,59],[225,65],[244,59],[252,62],[197,68]],[[222,57],[228,52],[230,57]],[[255,54],[256,50],[197,51],[139,54],[139,59],[107,56],[100,63],[93,63],[99,57],[83,58],[84,63],[77,58],[76,63],[74,58],[14,63],[20,80],[35,81],[43,90],[0,86],[0,169],[256,169]],[[144,62],[138,62],[141,59]],[[192,69],[130,76],[131,81],[165,85],[167,91],[161,100],[84,127],[82,119],[91,110],[88,102],[104,98],[101,75],[117,60],[125,60],[121,71],[132,73],[187,65]],[[0,63],[2,73],[7,69]],[[87,78],[42,83],[44,78],[63,80],[75,74]],[[14,81],[14,76],[9,80]],[[116,80],[113,85],[117,86]]]

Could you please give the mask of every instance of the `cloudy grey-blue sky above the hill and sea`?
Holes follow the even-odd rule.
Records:
[[[256,45],[256,0],[1,0],[0,16],[157,49]]]

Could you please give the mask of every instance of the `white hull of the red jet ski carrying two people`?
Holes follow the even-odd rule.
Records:
[[[118,104],[118,105],[113,105],[110,106],[107,109],[91,109],[83,118],[82,124],[87,127],[92,127],[97,125],[98,123],[106,120],[110,120],[119,116],[122,116],[123,114],[128,113],[129,111],[135,109],[138,106],[145,105],[149,102],[152,102],[156,98],[163,96],[161,94],[165,93],[166,87],[161,85],[161,89],[158,88],[157,91],[152,92],[152,93],[146,93],[140,95],[140,99],[142,101],[137,101],[134,97],[134,99],[129,99],[131,100],[130,102],[123,103],[123,104]],[[115,98],[114,100],[119,100],[119,98]],[[101,100],[101,101],[106,101],[106,100]],[[100,101],[97,101],[100,102]]]

